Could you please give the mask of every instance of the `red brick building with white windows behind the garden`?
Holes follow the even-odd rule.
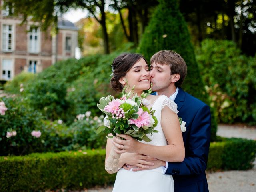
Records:
[[[21,22],[9,16],[9,10],[0,10],[0,80],[11,80],[22,71],[38,73],[75,57],[78,29],[72,22],[60,18],[56,36],[34,27],[36,23]]]

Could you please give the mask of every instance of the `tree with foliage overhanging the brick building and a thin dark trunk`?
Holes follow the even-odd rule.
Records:
[[[109,53],[105,0],[5,0],[4,7],[6,8],[6,6],[12,7],[13,16],[22,16],[22,24],[31,17],[30,20],[38,22],[43,31],[52,27],[55,32],[58,16],[67,12],[69,8],[87,9],[100,23],[104,39],[104,52]]]

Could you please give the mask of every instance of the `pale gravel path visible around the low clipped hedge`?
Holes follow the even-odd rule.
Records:
[[[256,140],[256,127],[218,125],[217,135]],[[256,192],[256,161],[248,171],[207,172],[210,192]],[[112,192],[112,187],[95,188],[80,192]]]

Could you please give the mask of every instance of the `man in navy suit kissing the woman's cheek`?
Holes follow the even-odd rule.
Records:
[[[183,162],[146,160],[154,163],[153,166],[148,166],[148,163],[146,166],[148,169],[166,167],[164,174],[173,176],[174,192],[208,192],[205,170],[210,146],[210,108],[180,87],[186,77],[187,66],[179,54],[174,51],[159,51],[152,56],[150,64],[152,90],[156,91],[155,94],[166,95],[174,100],[178,105],[178,116],[186,122],[186,131],[182,132],[186,155]],[[134,159],[137,161],[135,164],[145,161],[141,156]],[[124,168],[129,170],[126,166]]]

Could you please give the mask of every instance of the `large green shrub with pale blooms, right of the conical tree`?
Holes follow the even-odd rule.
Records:
[[[256,56],[228,40],[202,41],[198,64],[219,122],[256,124]]]

